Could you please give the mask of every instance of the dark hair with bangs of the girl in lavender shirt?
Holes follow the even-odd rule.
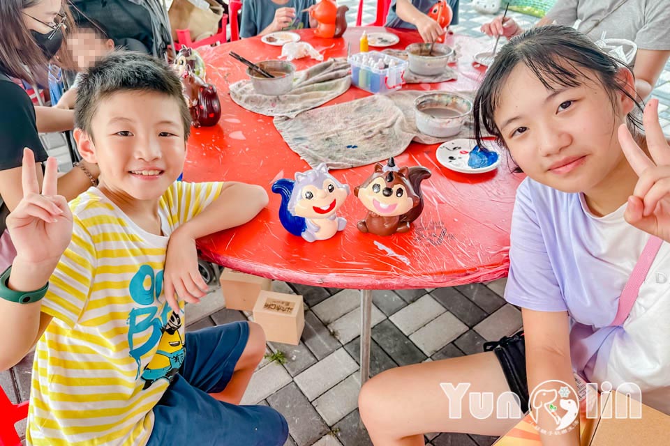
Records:
[[[583,84],[584,79],[592,79],[600,81],[609,94],[612,108],[615,94],[620,91],[641,109],[639,97],[634,97],[626,91],[625,85],[616,78],[619,68],[625,67],[631,70],[629,66],[604,53],[587,36],[569,26],[538,26],[512,38],[500,49],[486,72],[484,82],[477,90],[472,115],[475,121],[475,139],[479,146],[483,144],[482,125],[487,132],[496,137],[498,144],[505,146],[493,116],[507,78],[519,63],[530,68],[547,89],[555,89],[556,84],[576,87]],[[593,79],[594,73],[597,79]],[[641,129],[640,119],[634,113],[628,114],[627,121],[631,130]]]

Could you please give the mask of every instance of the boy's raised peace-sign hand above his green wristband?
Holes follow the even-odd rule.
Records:
[[[7,217],[17,257],[25,262],[57,263],[72,238],[72,214],[65,197],[57,195],[55,158],[47,160],[42,193],[35,171],[35,155],[24,148],[23,199]]]

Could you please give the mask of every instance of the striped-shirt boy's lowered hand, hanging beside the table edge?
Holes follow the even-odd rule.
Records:
[[[168,243],[163,273],[165,300],[179,314],[178,298],[197,304],[207,293],[207,284],[198,270],[198,249],[195,239],[183,231],[174,231]]]

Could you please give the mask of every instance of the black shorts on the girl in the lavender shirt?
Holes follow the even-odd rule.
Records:
[[[528,412],[528,378],[526,376],[526,340],[523,330],[500,341],[485,342],[484,351],[493,351],[500,361],[509,390],[521,400],[521,410]]]

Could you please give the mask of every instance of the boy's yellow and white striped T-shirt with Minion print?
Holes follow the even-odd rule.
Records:
[[[169,236],[214,201],[221,185],[171,185],[159,204],[163,236],[140,229],[97,189],[70,202],[73,238],[42,304],[54,318],[35,353],[29,444],[147,443],[152,408],[169,385],[156,376],[174,373],[184,354],[181,347],[165,353],[169,341],[183,341],[185,325],[162,294]],[[168,319],[172,328],[179,321],[178,330],[166,330]]]

